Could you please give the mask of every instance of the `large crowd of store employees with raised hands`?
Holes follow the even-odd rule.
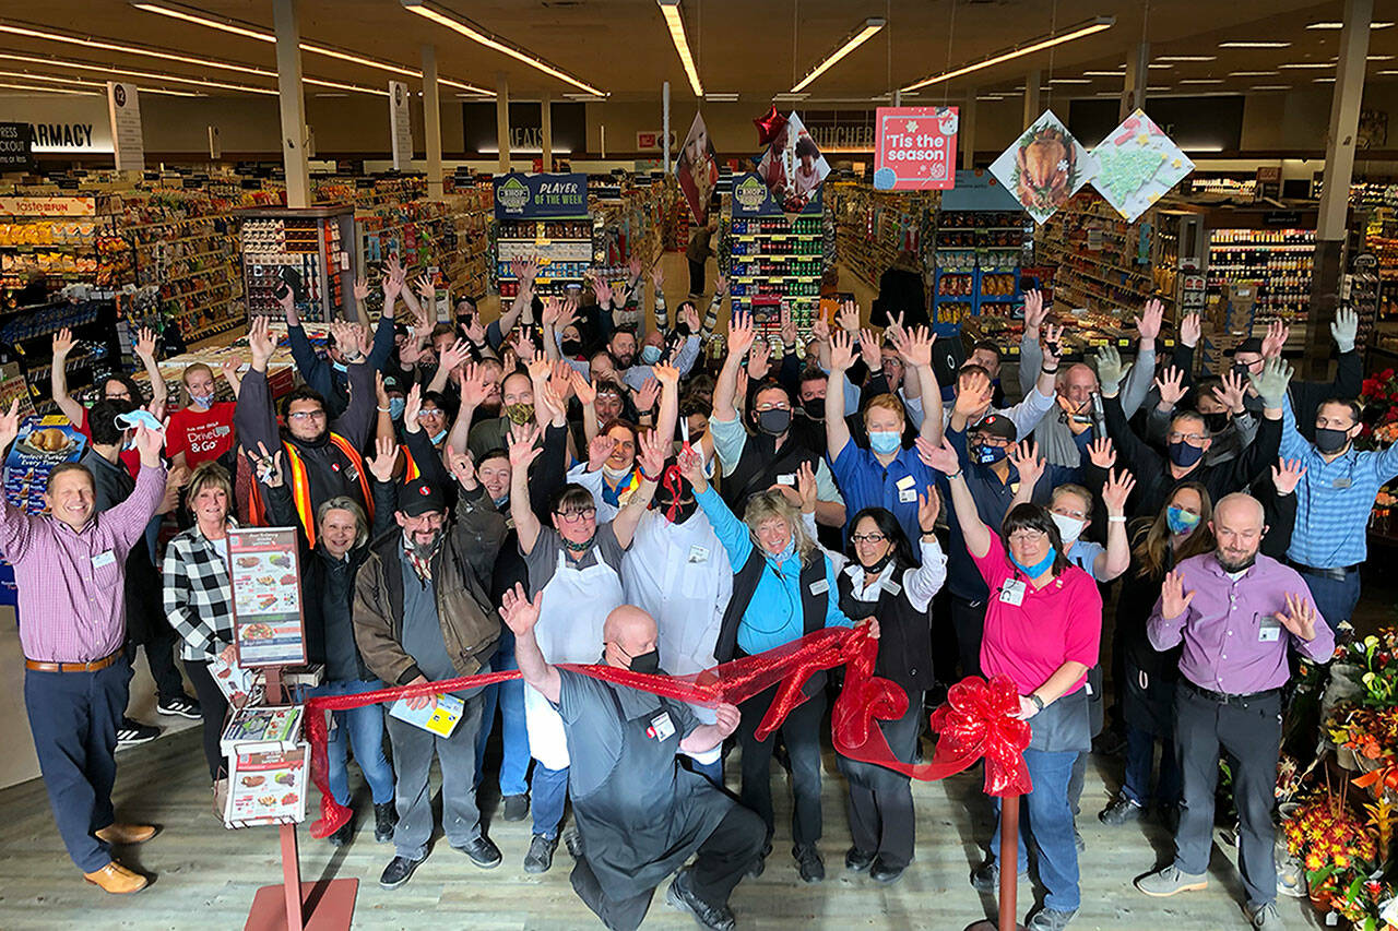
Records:
[[[1071,317],[1030,292],[1018,384],[1001,384],[1011,347],[994,342],[939,384],[934,335],[899,313],[879,333],[847,303],[804,345],[786,313],[776,341],[737,313],[710,368],[721,278],[703,319],[689,301],[671,319],[653,270],[647,319],[639,266],[568,299],[535,296],[531,263],[516,271],[498,320],[463,301],[439,323],[431,282],[410,287],[391,261],[373,333],[333,323],[324,356],[288,298],[301,377],[280,400],[266,317],[246,370],[224,368],[236,403],[215,401],[215,373],[192,365],[169,415],[151,337],[137,355],[152,396],[113,376],[91,408],[62,377],[71,338],[55,338],[55,398],[89,452],[53,471],[45,514],[0,503],[0,551],[15,568],[43,780],[89,882],[145,885],[113,847],[154,830],[116,821],[110,801],[119,735],[140,737],[124,720],[134,646],[161,710],[203,717],[221,805],[228,703],[210,665],[235,656],[226,535],[266,524],[299,531],[308,653],[323,667],[306,695],[521,675],[456,692],[449,737],[377,705],[334,713],[329,784],[351,802],[352,756],[375,840],[393,844],[386,889],[432,849],[433,758],[447,844],[478,868],[502,863],[477,804],[498,779],[503,819],[533,822],[521,868],[551,869],[566,840],[573,888],[610,928],[637,927],[671,875],[671,904],[731,928],[730,893],[787,842],[800,879],[821,882],[836,672],[812,677],[759,738],[776,688],[706,707],[562,664],[691,674],[863,625],[875,674],[907,698],[878,724],[905,763],[928,752],[925,712],[948,685],[986,675],[1018,689],[1033,780],[1021,846],[984,836],[970,881],[993,890],[1004,858],[1025,874],[1033,846],[1044,895],[1030,928],[1064,928],[1079,909],[1076,819],[1104,728],[1125,777],[1097,816],[1149,815],[1174,835],[1173,861],[1141,893],[1206,883],[1226,751],[1247,920],[1281,927],[1272,786],[1290,654],[1325,661],[1348,629],[1364,516],[1398,475],[1398,446],[1355,447],[1352,315],[1332,327],[1335,380],[1302,383],[1279,324],[1201,375],[1198,319],[1179,320],[1166,351],[1158,302],[1135,319],[1134,363],[1110,347],[1069,362]],[[14,408],[0,415],[0,445],[18,428]],[[180,530],[158,552],[166,516]],[[498,773],[482,767],[492,732]],[[776,823],[773,760],[790,772],[790,826]],[[844,868],[896,882],[917,847],[909,777],[844,756],[837,767]],[[329,842],[356,837],[351,821]]]

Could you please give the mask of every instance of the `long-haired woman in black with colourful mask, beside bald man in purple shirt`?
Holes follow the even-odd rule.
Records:
[[[1121,791],[1097,818],[1104,825],[1135,821],[1153,798],[1160,819],[1172,825],[1179,818],[1180,769],[1174,758],[1174,681],[1180,668],[1180,647],[1158,651],[1145,633],[1145,622],[1160,597],[1165,573],[1181,561],[1211,552],[1215,547],[1209,521],[1213,503],[1199,482],[1184,482],[1166,500],[1160,513],[1137,520],[1131,545],[1131,568],[1117,600],[1116,644],[1121,651],[1121,714],[1125,719],[1127,767]],[[1151,793],[1155,744],[1160,741],[1160,776]],[[1173,825],[1172,825],[1173,829]]]

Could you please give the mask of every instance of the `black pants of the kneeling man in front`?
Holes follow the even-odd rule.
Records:
[[[713,833],[699,844],[693,865],[689,867],[693,890],[712,906],[727,904],[765,840],[766,830],[761,818],[741,805],[728,808]],[[630,899],[607,897],[586,856],[573,864],[569,879],[577,896],[614,931],[639,928],[650,909],[650,899],[656,895],[654,889],[647,889]]]

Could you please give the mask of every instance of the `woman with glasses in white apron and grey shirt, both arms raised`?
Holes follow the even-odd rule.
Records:
[[[509,446],[510,516],[528,569],[530,597],[544,593],[534,635],[545,663],[596,663],[607,615],[625,602],[622,556],[656,493],[670,436],[654,431],[642,435],[636,456],[640,485],[611,521],[598,524],[593,492],[568,484],[548,509],[552,527],[542,526],[528,503],[528,466],[542,453],[534,443],[537,438],[537,428],[514,428]],[[632,668],[654,672],[653,668]],[[568,741],[558,712],[535,689],[524,692],[524,726],[535,760],[530,787],[534,832],[526,865],[538,864],[542,868],[530,872],[542,872],[552,863],[563,821]]]

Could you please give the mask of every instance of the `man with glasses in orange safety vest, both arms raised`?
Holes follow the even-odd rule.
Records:
[[[285,450],[287,481],[309,544],[316,544],[316,509],[331,498],[350,498],[372,520],[373,493],[359,450],[369,445],[377,421],[373,369],[358,352],[345,356],[350,363],[350,407],[334,422],[330,422],[326,400],[317,391],[306,386],[294,389],[282,400],[287,425],[278,429],[267,384],[267,361],[275,348],[267,317],[257,317],[247,327],[247,345],[253,362],[243,376],[233,412],[238,442],[246,450]],[[260,506],[254,507],[254,516],[260,510]]]

